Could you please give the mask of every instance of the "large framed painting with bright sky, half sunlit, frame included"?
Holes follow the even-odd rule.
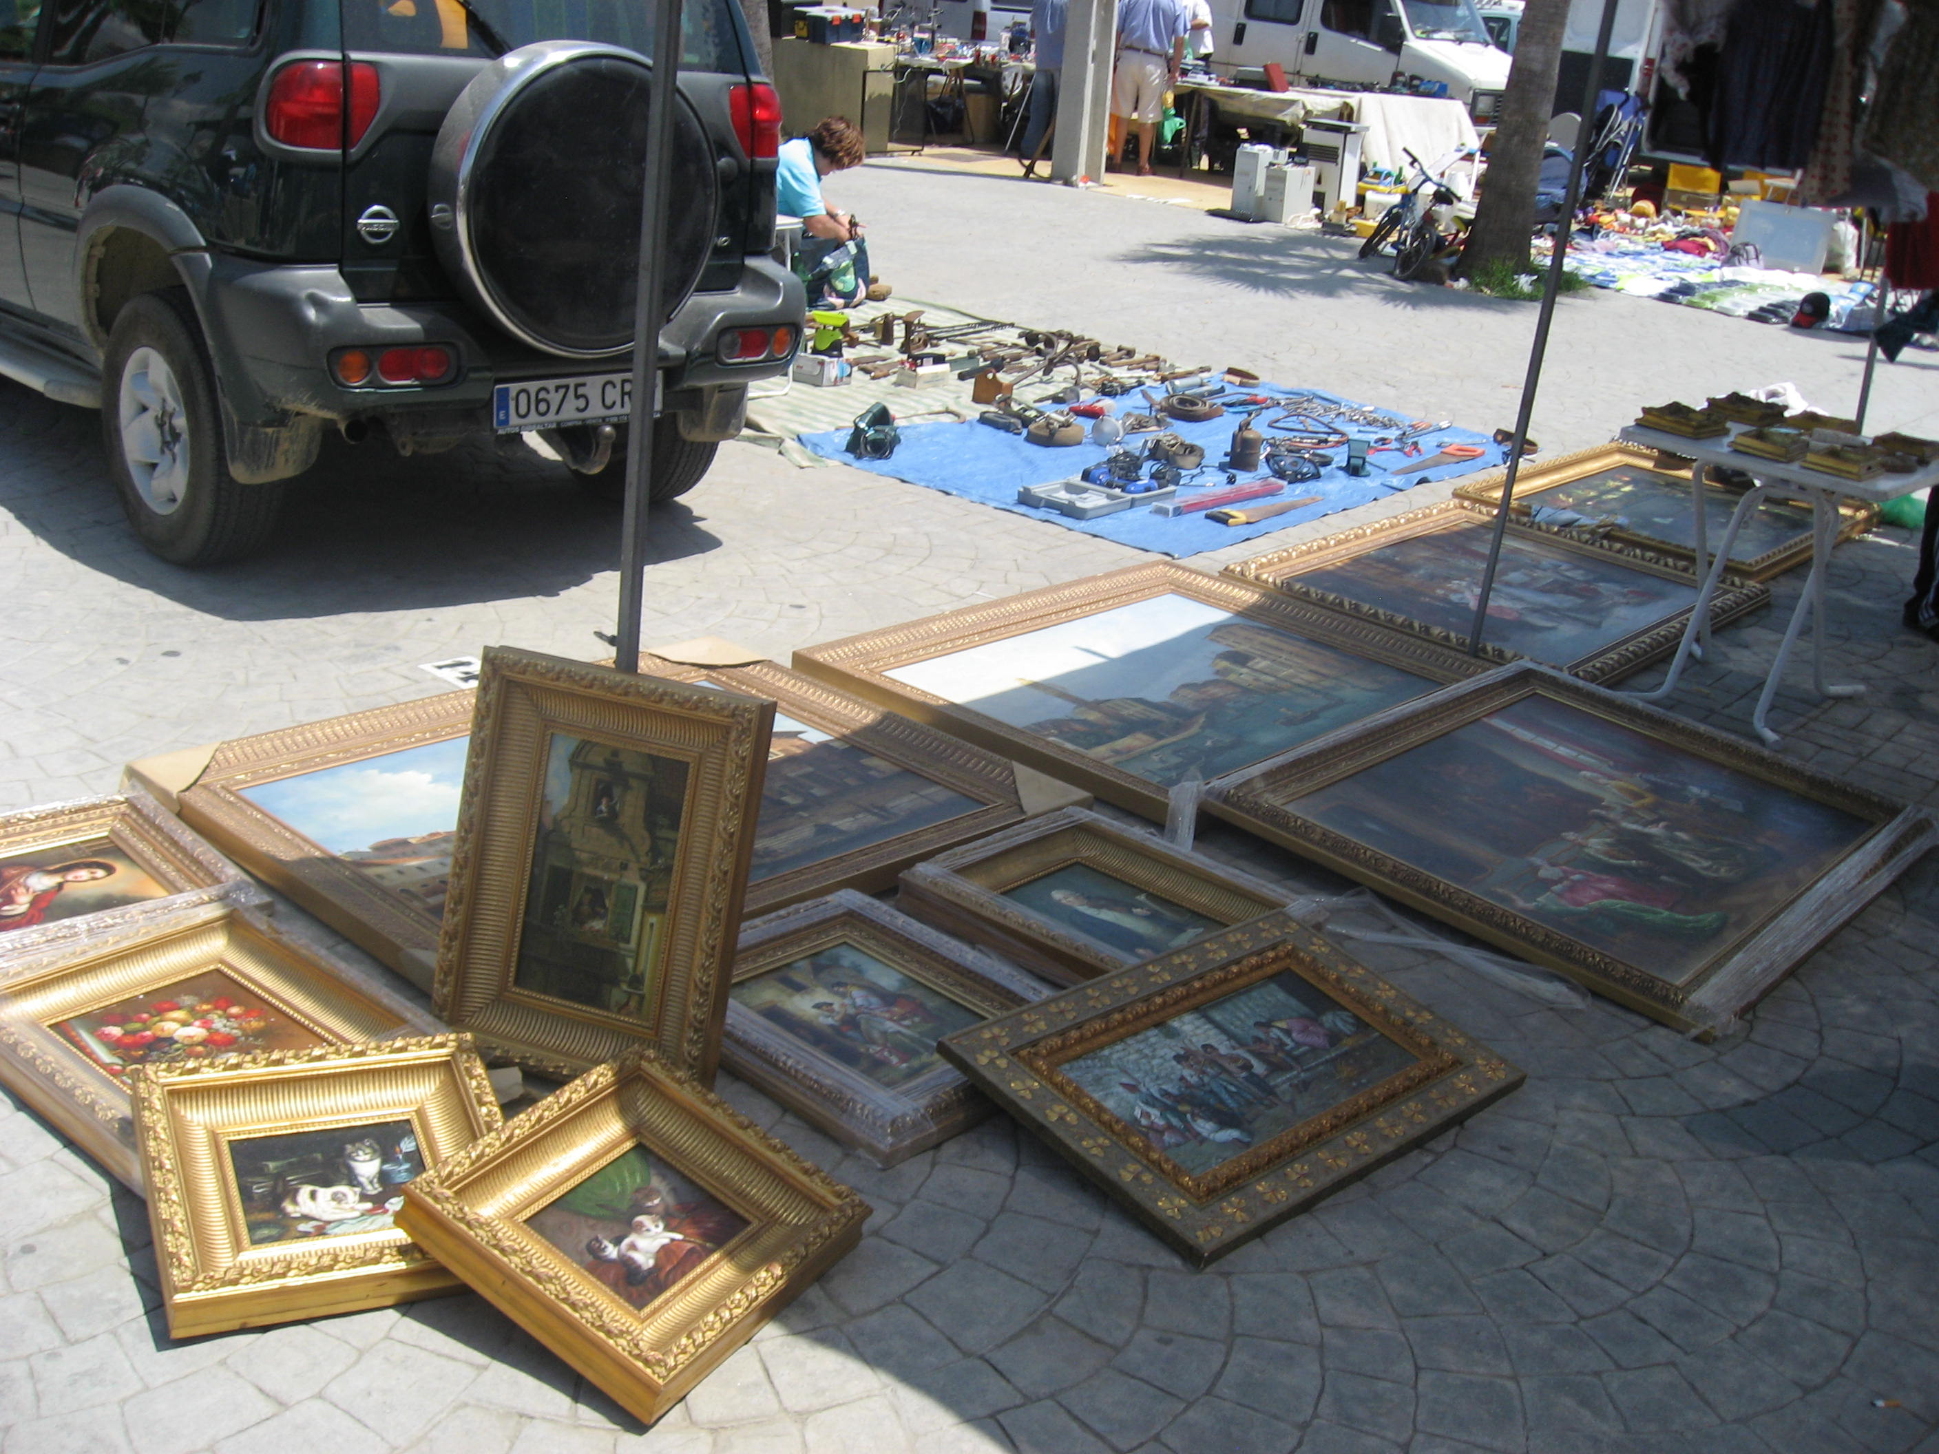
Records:
[[[1276,756],[1501,659],[1156,562],[805,648],[793,665],[1163,822],[1192,770]]]

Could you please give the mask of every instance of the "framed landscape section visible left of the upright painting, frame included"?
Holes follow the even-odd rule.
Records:
[[[430,993],[475,696],[440,692],[219,743],[176,791],[176,812]]]

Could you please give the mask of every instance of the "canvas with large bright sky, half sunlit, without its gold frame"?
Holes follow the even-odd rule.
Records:
[[[888,677],[1163,787],[1245,768],[1437,686],[1183,595]]]

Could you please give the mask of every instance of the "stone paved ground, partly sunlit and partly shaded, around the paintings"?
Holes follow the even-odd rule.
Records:
[[[1464,423],[1505,417],[1483,405],[1520,374],[1528,310],[1400,293],[1326,244],[975,178],[871,167],[840,184],[913,295],[999,316],[1028,300]],[[958,246],[977,221],[1018,246]],[[1045,238],[1068,260],[1063,291],[1022,273]],[[1852,388],[1844,343],[1633,299],[1582,308],[1543,386],[1551,448],[1669,392]],[[1881,421],[1929,428],[1931,366],[1900,366],[1879,397]],[[105,791],[132,756],[442,690],[417,663],[487,642],[593,655],[591,630],[611,628],[613,516],[535,459],[345,450],[262,562],[184,576],[128,543],[93,428],[0,384],[0,806]],[[648,640],[717,632],[781,655],[1138,558],[745,446],[665,512],[659,556]],[[1871,694],[1786,690],[1774,723],[1794,754],[1939,806],[1939,655],[1896,624],[1910,570],[1902,531],[1840,549],[1836,675]],[[1778,584],[1778,611],[1796,589]],[[1675,708],[1743,731],[1774,632],[1772,616],[1724,632]],[[1231,830],[1204,847],[1338,888]],[[1933,1454],[1935,921],[1927,857],[1714,1045],[1365,946],[1528,1086],[1202,1274],[1002,1119],[876,1173],[727,1084],[876,1216],[644,1435],[473,1297],[171,1343],[142,1204],[8,1109],[4,1452]]]

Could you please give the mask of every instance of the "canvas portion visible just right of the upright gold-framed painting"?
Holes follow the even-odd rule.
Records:
[[[981,806],[952,787],[778,711],[750,876],[758,884]]]

